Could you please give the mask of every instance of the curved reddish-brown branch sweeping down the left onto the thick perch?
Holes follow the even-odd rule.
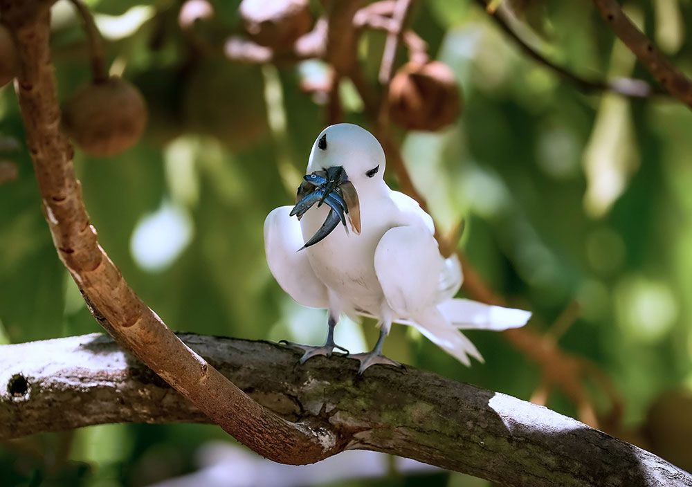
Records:
[[[17,46],[17,95],[44,212],[58,255],[89,309],[118,343],[256,452],[283,463],[311,463],[343,448],[325,421],[291,423],[246,396],[185,346],[127,285],[98,244],[73,168],[73,149],[60,131],[60,109],[48,47],[50,12],[26,22],[27,4],[3,0],[0,12]],[[52,415],[54,416],[54,415]]]

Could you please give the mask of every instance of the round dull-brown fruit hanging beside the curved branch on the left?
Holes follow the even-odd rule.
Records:
[[[65,133],[91,156],[113,156],[129,149],[146,125],[143,96],[119,77],[81,86],[62,109]]]

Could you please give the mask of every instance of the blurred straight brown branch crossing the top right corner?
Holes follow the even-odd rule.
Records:
[[[617,0],[594,0],[601,16],[612,31],[637,56],[639,62],[658,80],[668,93],[692,108],[692,80],[673,66],[620,8]]]

